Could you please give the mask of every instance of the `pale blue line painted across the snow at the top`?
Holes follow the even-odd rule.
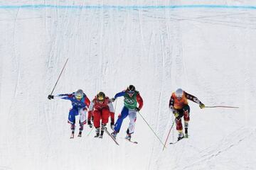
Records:
[[[0,8],[89,8],[89,9],[158,9],[158,8],[237,8],[237,9],[256,9],[256,6],[225,6],[225,5],[183,5],[183,6],[60,6],[60,5],[21,5],[21,6],[0,6]]]

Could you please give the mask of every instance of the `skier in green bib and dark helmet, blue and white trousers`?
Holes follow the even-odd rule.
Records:
[[[114,131],[111,135],[114,138],[117,137],[117,133],[121,128],[122,121],[127,117],[127,115],[129,115],[130,122],[129,127],[127,128],[127,136],[125,139],[131,140],[132,133],[134,132],[135,121],[137,118],[137,112],[142,109],[143,100],[139,95],[139,91],[136,91],[133,85],[129,85],[126,90],[116,94],[114,98],[111,98],[111,101],[114,102],[116,98],[121,96],[124,96],[124,107],[122,108],[121,114],[118,116],[117,122],[114,124]],[[138,107],[137,103],[139,103]]]

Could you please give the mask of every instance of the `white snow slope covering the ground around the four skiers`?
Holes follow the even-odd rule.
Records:
[[[234,6],[256,2],[2,0],[0,169],[255,169],[256,10]],[[162,142],[178,87],[206,106],[240,108],[190,102],[189,138],[164,151],[140,115],[138,145],[124,140],[129,118],[119,146],[107,135],[87,136],[87,125],[70,140],[70,101],[47,98],[67,58],[53,94],[83,89],[92,100],[134,84],[144,99],[140,113]],[[117,120],[122,98],[115,104]],[[174,128],[168,143],[176,137]]]

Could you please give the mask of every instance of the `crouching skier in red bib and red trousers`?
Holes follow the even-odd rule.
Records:
[[[92,128],[91,117],[93,115],[93,124],[95,126],[96,135],[95,137],[103,137],[104,130],[108,123],[109,117],[111,118],[111,128],[114,128],[114,108],[110,98],[100,91],[95,96],[89,106],[88,120],[87,123]],[[102,120],[100,128],[100,120]]]

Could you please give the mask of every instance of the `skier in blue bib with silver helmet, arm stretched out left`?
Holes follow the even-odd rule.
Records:
[[[83,93],[81,89],[73,92],[72,94],[58,94],[57,96],[49,95],[48,99],[53,99],[54,97],[60,97],[65,100],[69,100],[72,103],[72,108],[70,108],[68,115],[68,123],[70,123],[71,127],[71,136],[70,138],[74,138],[75,133],[75,116],[80,115],[79,118],[79,134],[78,137],[82,136],[83,126],[86,124],[86,111],[87,107],[90,105],[90,100]]]

